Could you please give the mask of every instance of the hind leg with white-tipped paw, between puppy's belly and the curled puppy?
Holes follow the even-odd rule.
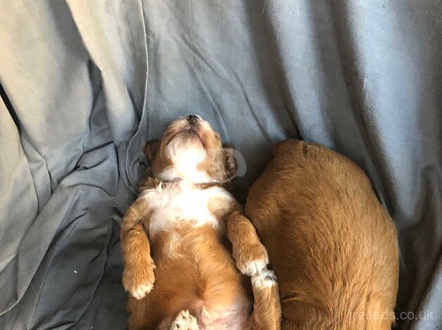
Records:
[[[253,314],[248,319],[250,330],[277,330],[281,326],[281,305],[277,279],[271,270],[262,270],[251,278]]]

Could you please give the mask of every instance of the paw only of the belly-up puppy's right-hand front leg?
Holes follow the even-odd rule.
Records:
[[[236,267],[245,275],[252,276],[264,270],[269,263],[267,250],[260,242],[242,246],[234,253]]]

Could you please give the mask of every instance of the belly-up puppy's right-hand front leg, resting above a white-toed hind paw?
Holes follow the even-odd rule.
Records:
[[[255,227],[239,211],[227,216],[227,237],[232,242],[232,252],[236,267],[248,276],[258,274],[263,270],[269,258],[263,244],[261,244]]]

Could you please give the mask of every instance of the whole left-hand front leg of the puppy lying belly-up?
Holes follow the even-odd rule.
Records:
[[[142,198],[130,206],[121,226],[121,249],[125,268],[122,284],[134,298],[141,299],[149,293],[155,281],[155,265],[151,258],[149,239],[141,224],[148,207]]]

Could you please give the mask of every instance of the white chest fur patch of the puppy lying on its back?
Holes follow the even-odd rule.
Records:
[[[220,187],[198,190],[184,182],[159,185],[145,192],[143,197],[152,211],[149,225],[151,236],[161,230],[170,230],[182,221],[191,221],[196,227],[207,223],[219,227],[217,218],[209,209],[209,202],[215,197],[232,199]]]

